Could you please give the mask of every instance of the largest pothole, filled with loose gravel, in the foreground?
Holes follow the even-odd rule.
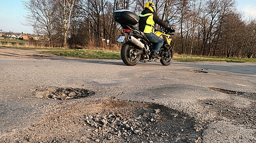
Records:
[[[59,108],[62,110],[11,137],[15,141],[33,142],[202,141],[202,132],[196,132],[193,117],[162,105],[114,100],[91,105],[60,105]]]

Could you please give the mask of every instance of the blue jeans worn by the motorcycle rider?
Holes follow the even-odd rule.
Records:
[[[158,53],[161,46],[163,45],[163,39],[156,36],[154,33],[145,33],[145,36],[148,38],[148,40],[153,44],[153,50],[152,52]]]

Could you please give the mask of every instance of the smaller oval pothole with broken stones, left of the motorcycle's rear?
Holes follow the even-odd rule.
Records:
[[[84,88],[43,88],[35,90],[35,97],[54,100],[79,99],[94,95],[93,91]]]

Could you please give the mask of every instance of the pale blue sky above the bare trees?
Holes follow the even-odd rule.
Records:
[[[256,0],[236,0],[236,2],[238,10],[244,11],[246,15],[256,16]],[[22,25],[22,23],[26,23],[24,15],[26,15],[26,10],[24,10],[21,0],[0,0],[0,29],[3,31],[32,34],[32,27]]]

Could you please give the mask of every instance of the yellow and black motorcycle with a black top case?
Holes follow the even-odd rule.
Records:
[[[139,22],[139,16],[129,10],[115,11],[113,17],[117,23],[123,27],[122,35],[119,35],[117,42],[123,43],[121,47],[121,59],[126,65],[137,65],[139,61],[149,62],[158,61],[151,57],[151,50],[153,44],[147,39],[145,34],[139,31],[135,25]],[[169,19],[168,24],[172,21]],[[174,35],[173,29],[155,29],[154,34],[163,38],[164,44],[160,48],[158,55],[162,58],[160,62],[162,65],[170,65],[173,59],[173,49],[170,45]]]

